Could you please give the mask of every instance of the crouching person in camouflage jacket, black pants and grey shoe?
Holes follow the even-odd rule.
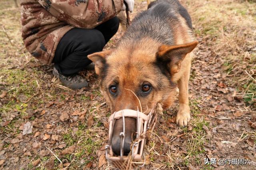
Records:
[[[26,49],[70,88],[87,87],[77,74],[93,67],[87,58],[102,51],[117,32],[118,12],[132,12],[134,0],[21,0],[22,38]]]

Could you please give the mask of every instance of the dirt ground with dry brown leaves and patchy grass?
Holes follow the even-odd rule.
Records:
[[[255,170],[256,2],[181,2],[199,41],[190,75],[192,119],[179,128],[178,103],[164,110],[142,169]],[[136,0],[132,18],[146,7],[146,1]],[[104,157],[110,111],[96,74],[81,72],[89,88],[62,86],[52,66],[26,51],[20,29],[20,8],[1,0],[0,170],[113,169]],[[113,48],[122,33],[119,29],[105,48]],[[212,158],[217,164],[204,164]],[[220,159],[250,162],[220,165]]]

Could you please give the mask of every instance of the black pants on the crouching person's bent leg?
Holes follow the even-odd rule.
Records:
[[[92,63],[87,55],[102,51],[110,38],[115,35],[118,27],[119,20],[114,17],[94,29],[71,29],[57,46],[52,61],[54,67],[65,76],[84,69]]]

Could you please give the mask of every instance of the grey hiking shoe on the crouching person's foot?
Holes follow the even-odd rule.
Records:
[[[52,74],[56,76],[64,86],[67,86],[72,89],[79,89],[83,87],[88,87],[88,82],[82,78],[82,76],[74,75],[74,76],[64,76],[58,72],[58,70],[53,67]]]

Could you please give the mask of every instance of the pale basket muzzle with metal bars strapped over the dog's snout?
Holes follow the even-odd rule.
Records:
[[[105,146],[106,149],[106,159],[116,166],[116,168],[122,169],[130,169],[135,168],[137,166],[144,166],[144,162],[142,162],[142,156],[144,152],[144,146],[146,143],[146,132],[150,129],[153,130],[154,125],[156,124],[157,112],[152,109],[148,115],[136,110],[131,109],[123,109],[115,112],[109,118],[109,132],[108,132],[108,145]],[[124,139],[125,139],[125,118],[132,117],[137,121],[137,131],[136,131],[136,139],[132,141],[131,144],[131,152],[128,156],[124,156]],[[123,119],[123,131],[120,132],[120,156],[115,156],[112,150],[112,135],[113,128],[116,119]]]

